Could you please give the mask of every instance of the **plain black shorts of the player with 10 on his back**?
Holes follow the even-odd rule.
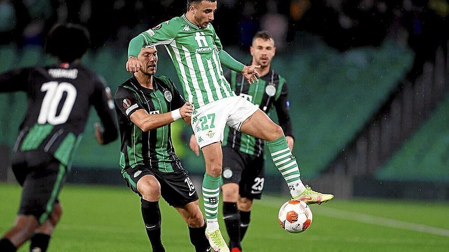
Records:
[[[66,167],[53,155],[35,150],[14,153],[12,171],[23,187],[18,213],[34,215],[43,223],[59,202]]]

